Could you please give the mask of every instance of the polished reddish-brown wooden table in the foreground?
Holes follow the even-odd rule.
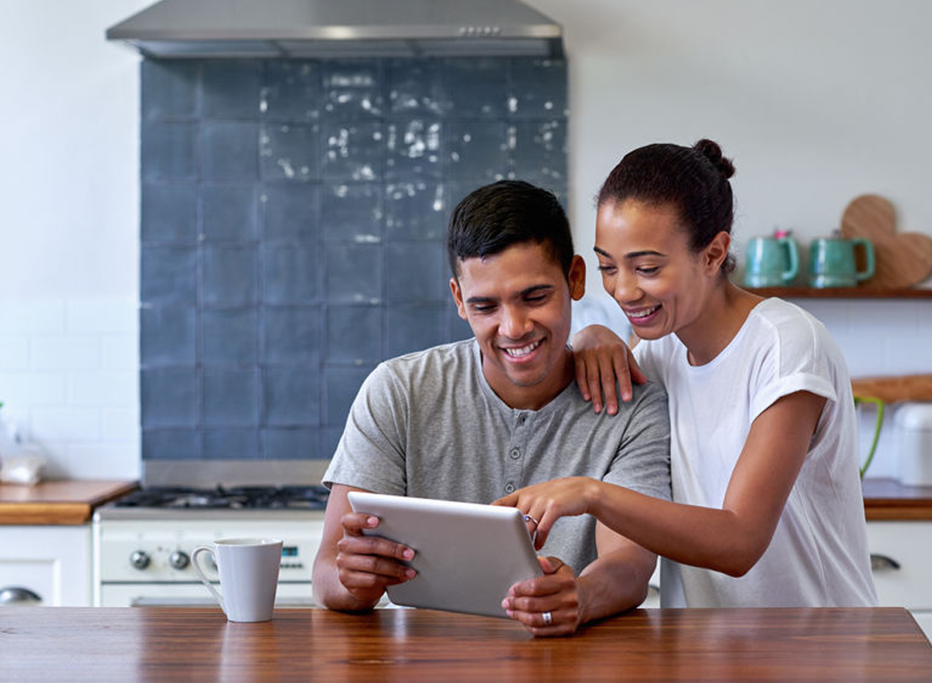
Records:
[[[3,608],[0,680],[929,680],[902,608],[636,609],[565,638],[423,609]]]

